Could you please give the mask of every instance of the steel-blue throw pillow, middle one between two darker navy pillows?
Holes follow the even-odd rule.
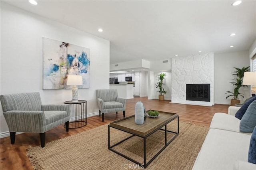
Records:
[[[254,100],[244,113],[240,121],[240,132],[252,133],[256,126],[256,100]]]

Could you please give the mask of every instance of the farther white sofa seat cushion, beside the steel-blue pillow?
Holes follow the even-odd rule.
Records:
[[[239,132],[240,120],[226,113],[215,113],[210,128],[218,128]]]

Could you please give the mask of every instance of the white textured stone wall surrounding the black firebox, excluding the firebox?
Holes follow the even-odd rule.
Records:
[[[210,102],[186,100],[186,84],[210,84]],[[214,105],[214,54],[172,59],[172,103]]]

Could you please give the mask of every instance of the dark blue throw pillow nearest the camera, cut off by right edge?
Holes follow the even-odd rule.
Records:
[[[248,162],[256,164],[256,126],[254,127],[250,140]]]

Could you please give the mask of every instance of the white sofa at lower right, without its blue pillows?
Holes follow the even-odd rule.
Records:
[[[240,120],[234,116],[239,108],[214,114],[193,170],[256,170],[247,162],[251,134],[239,132]]]

